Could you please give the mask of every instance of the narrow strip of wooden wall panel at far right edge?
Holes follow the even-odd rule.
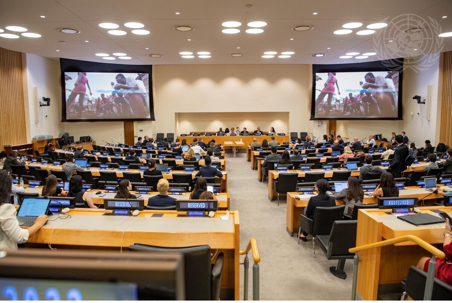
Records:
[[[443,53],[443,100],[439,142],[452,146],[452,51]]]

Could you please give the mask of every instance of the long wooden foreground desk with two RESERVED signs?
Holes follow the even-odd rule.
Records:
[[[214,218],[177,217],[183,211],[140,211],[137,217],[102,216],[111,210],[72,209],[70,219],[49,221],[24,246],[72,249],[111,249],[119,253],[134,243],[148,245],[184,247],[210,245],[212,256],[224,253],[221,288],[230,295],[225,299],[239,299],[239,251],[240,223],[238,211],[231,211],[229,220]],[[163,214],[155,217],[154,214]],[[53,220],[56,216],[51,216]],[[128,223],[127,223],[128,221]],[[124,232],[125,230],[125,232]],[[123,239],[122,239],[123,238]]]

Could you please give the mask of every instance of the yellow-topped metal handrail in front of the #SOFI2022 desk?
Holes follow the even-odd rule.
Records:
[[[383,246],[400,243],[400,242],[405,242],[405,241],[414,242],[432,254],[432,257],[430,258],[430,261],[428,262],[427,280],[425,281],[424,300],[430,301],[432,299],[433,282],[434,282],[435,270],[436,270],[435,257],[444,259],[446,257],[446,255],[443,251],[439,250],[438,248],[433,247],[431,244],[425,242],[423,239],[420,239],[419,237],[416,237],[411,234],[407,234],[404,236],[396,237],[394,239],[370,243],[370,244],[366,244],[366,245],[348,249],[348,252],[355,253],[355,257],[353,257],[352,300],[356,300],[356,282],[358,279],[358,264],[359,264],[358,252],[367,250],[367,249],[372,249],[372,248],[380,248]]]

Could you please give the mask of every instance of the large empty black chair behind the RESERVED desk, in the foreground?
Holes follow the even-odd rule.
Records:
[[[211,249],[208,245],[191,247],[161,247],[145,244],[129,246],[132,251],[154,253],[181,253],[184,256],[185,300],[219,300],[223,253],[218,253],[212,266]]]

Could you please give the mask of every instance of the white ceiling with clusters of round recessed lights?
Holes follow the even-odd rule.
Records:
[[[247,4],[252,7],[245,7]],[[314,12],[318,14],[313,15]],[[374,42],[374,37],[389,37],[389,31],[394,31],[391,23],[372,35],[358,36],[355,32],[385,18],[406,18],[404,14],[417,14],[428,21],[424,24],[424,41],[416,46],[421,53],[452,50],[452,37],[428,36],[428,32],[438,31],[438,26],[441,27],[440,32],[452,32],[451,0],[1,0],[1,29],[5,30],[8,25],[23,26],[28,28],[28,32],[39,33],[42,37],[0,37],[0,47],[50,58],[120,64],[352,63],[399,57],[381,50],[381,42]],[[46,18],[40,18],[41,15]],[[444,15],[448,18],[442,18]],[[246,24],[257,20],[268,23],[263,28],[264,32],[255,35],[245,33],[248,28]],[[143,23],[144,29],[151,31],[151,34],[132,34],[132,29],[123,25],[131,21]],[[241,32],[234,35],[222,33],[224,28],[221,23],[225,21],[241,22]],[[348,35],[333,34],[344,23],[355,21],[364,25]],[[119,24],[118,29],[127,31],[127,35],[108,34],[107,29],[98,26],[102,22]],[[179,32],[173,29],[177,25],[189,25],[194,30]],[[292,28],[297,25],[309,25],[314,29],[295,32]],[[58,32],[58,28],[74,28],[80,33],[64,34]],[[379,31],[386,30],[388,32],[376,36]],[[65,41],[66,44],[58,41]],[[347,52],[366,53],[372,52],[372,49],[376,52],[381,50],[381,54],[361,60],[339,59]],[[184,59],[179,55],[180,51],[192,51],[195,55],[197,51],[209,51],[212,58]],[[295,55],[287,59],[263,59],[261,55],[264,51],[294,51]],[[132,60],[104,60],[94,55],[99,52],[109,55],[122,52],[131,56]],[[244,56],[230,56],[237,52]],[[326,56],[312,57],[315,53]],[[163,57],[149,58],[147,54],[162,54]]]

